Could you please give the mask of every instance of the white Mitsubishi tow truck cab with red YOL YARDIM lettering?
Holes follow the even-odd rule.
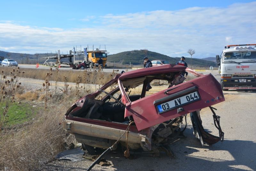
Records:
[[[222,90],[256,89],[256,44],[227,45],[216,60]]]

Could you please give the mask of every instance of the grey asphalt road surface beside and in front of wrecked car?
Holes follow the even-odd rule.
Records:
[[[203,72],[209,74],[209,72]],[[212,72],[217,80],[218,72]],[[213,145],[202,145],[193,135],[193,127],[188,115],[188,126],[182,138],[170,145],[174,158],[161,154],[160,157],[140,156],[126,159],[123,152],[110,152],[104,158],[113,165],[96,165],[92,170],[138,170],[138,171],[197,171],[197,170],[256,170],[256,91],[224,91],[226,101],[214,105],[220,116],[220,126],[224,141]],[[205,130],[218,135],[209,108],[201,110],[201,119]],[[84,170],[90,166],[89,160],[72,163],[54,161],[47,169]],[[47,170],[46,169],[46,170]]]

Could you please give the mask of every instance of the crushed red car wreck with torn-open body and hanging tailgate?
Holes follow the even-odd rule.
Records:
[[[183,71],[197,78],[183,82]],[[147,84],[157,84],[146,91]],[[63,127],[74,134],[83,147],[109,148],[129,132],[119,143],[149,153],[171,137],[180,135],[188,113],[194,134],[201,144],[214,144],[224,133],[220,117],[211,105],[225,101],[220,83],[212,74],[203,75],[185,66],[167,64],[117,74],[97,92],[79,99],[65,114]],[[206,132],[200,119],[200,109],[210,107],[219,136]],[[184,121],[185,120],[185,121]],[[186,122],[187,124],[187,122]]]

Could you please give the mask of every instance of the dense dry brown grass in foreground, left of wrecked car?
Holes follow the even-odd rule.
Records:
[[[0,139],[0,168],[33,170],[52,160],[68,143],[61,122],[64,111],[39,118],[21,130],[2,132]],[[72,138],[71,138],[72,140]]]

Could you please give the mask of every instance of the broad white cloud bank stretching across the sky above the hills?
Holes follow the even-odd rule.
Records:
[[[227,8],[193,7],[178,11],[150,11],[97,17],[89,28],[49,28],[0,21],[0,50],[63,53],[73,46],[106,44],[110,54],[148,49],[171,57],[195,58],[220,54],[225,45],[255,43],[256,2]],[[81,20],[94,19],[87,16]]]

